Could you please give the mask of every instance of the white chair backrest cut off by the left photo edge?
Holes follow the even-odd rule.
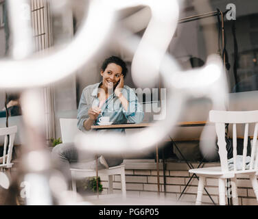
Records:
[[[17,132],[17,126],[12,126],[8,128],[1,128],[0,129],[0,136],[5,136],[5,140],[3,143],[3,157],[2,159],[2,164],[3,165],[8,165],[10,164],[12,160],[12,148],[14,146],[14,138],[15,138],[15,133]],[[9,136],[9,144],[8,144],[8,136]],[[8,151],[7,151],[7,146],[8,146]]]

